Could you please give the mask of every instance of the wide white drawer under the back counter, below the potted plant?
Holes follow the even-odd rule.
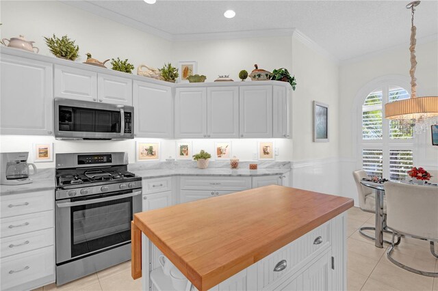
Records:
[[[183,190],[242,191],[251,188],[250,177],[188,176],[181,177],[180,181]]]

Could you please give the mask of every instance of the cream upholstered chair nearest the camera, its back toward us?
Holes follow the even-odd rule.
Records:
[[[438,243],[438,188],[404,183],[385,182],[387,197],[387,229],[393,232],[388,259],[413,273],[438,277],[438,273],[419,271],[406,266],[391,257],[394,251],[394,235],[411,236],[430,241],[430,252],[435,253],[434,242]]]

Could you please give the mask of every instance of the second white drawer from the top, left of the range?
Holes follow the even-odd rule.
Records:
[[[15,236],[53,227],[53,210],[0,219],[0,237]]]

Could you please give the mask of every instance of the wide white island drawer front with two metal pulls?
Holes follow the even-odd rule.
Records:
[[[298,272],[329,247],[330,221],[257,262],[257,290],[270,290],[272,284],[276,285],[285,276]],[[276,267],[277,271],[274,271]]]

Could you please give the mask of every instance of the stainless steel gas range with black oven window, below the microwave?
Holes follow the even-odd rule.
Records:
[[[131,259],[131,221],[142,178],[125,152],[56,154],[56,283]]]

